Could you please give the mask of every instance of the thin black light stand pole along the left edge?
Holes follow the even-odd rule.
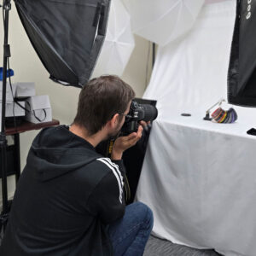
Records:
[[[9,10],[11,9],[10,0],[3,0],[3,17],[4,17],[4,44],[3,44],[3,90],[2,90],[2,116],[0,131],[0,149],[1,149],[1,167],[2,167],[2,195],[3,195],[3,211],[1,213],[1,223],[3,229],[7,222],[8,213],[8,190],[6,177],[6,149],[7,140],[5,134],[5,102],[6,102],[6,80],[7,80],[7,62],[10,57],[10,49],[8,44],[9,30]]]

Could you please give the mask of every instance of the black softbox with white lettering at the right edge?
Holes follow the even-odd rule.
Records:
[[[236,1],[228,72],[228,101],[256,107],[256,1]]]

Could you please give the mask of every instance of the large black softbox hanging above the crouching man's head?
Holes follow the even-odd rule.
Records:
[[[15,0],[20,20],[50,79],[82,87],[106,34],[110,0]]]

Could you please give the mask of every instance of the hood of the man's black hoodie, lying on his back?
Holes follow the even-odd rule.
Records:
[[[26,160],[42,182],[60,177],[89,164],[101,154],[95,148],[69,131],[67,125],[49,127],[34,139]]]

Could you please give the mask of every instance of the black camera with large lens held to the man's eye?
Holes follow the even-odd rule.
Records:
[[[136,100],[131,101],[129,113],[125,117],[125,124],[121,129],[121,135],[137,132],[139,121],[153,121],[157,118],[157,108],[150,104],[139,104]]]

